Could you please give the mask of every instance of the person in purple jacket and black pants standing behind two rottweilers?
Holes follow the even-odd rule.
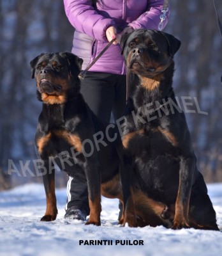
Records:
[[[121,35],[133,29],[158,29],[164,0],[64,0],[64,10],[73,28],[71,52],[84,60],[82,70],[101,50],[114,43],[85,74],[81,90],[85,102],[104,122],[121,117],[126,102],[126,67],[121,55]],[[169,12],[163,21],[168,21]],[[74,166],[75,168],[75,166]],[[87,183],[70,177],[64,218],[86,220],[89,215]]]

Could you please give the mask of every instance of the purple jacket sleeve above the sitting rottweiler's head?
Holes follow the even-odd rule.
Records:
[[[147,4],[147,10],[145,13],[142,13],[137,20],[133,20],[133,22],[129,23],[128,26],[133,29],[139,28],[147,28],[147,29],[158,29],[158,25],[160,22],[159,16],[162,14],[161,10],[163,8],[164,0],[150,0]],[[169,10],[166,13],[166,19],[163,21],[163,28],[165,28],[168,17]]]

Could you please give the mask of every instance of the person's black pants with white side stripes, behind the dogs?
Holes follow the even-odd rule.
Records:
[[[126,104],[126,76],[98,72],[87,72],[81,83],[81,93],[85,102],[101,120],[110,122],[122,116]],[[67,185],[66,209],[75,206],[89,215],[87,183],[70,177]]]

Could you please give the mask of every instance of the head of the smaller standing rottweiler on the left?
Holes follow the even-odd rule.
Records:
[[[42,53],[34,58],[30,65],[38,99],[47,104],[63,104],[67,97],[78,93],[82,61],[70,52]]]

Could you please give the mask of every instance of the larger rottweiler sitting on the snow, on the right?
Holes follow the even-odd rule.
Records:
[[[129,73],[124,163],[133,173],[140,225],[218,230],[196,168],[186,118],[172,88],[174,54],[180,45],[174,36],[149,29],[122,36]]]

